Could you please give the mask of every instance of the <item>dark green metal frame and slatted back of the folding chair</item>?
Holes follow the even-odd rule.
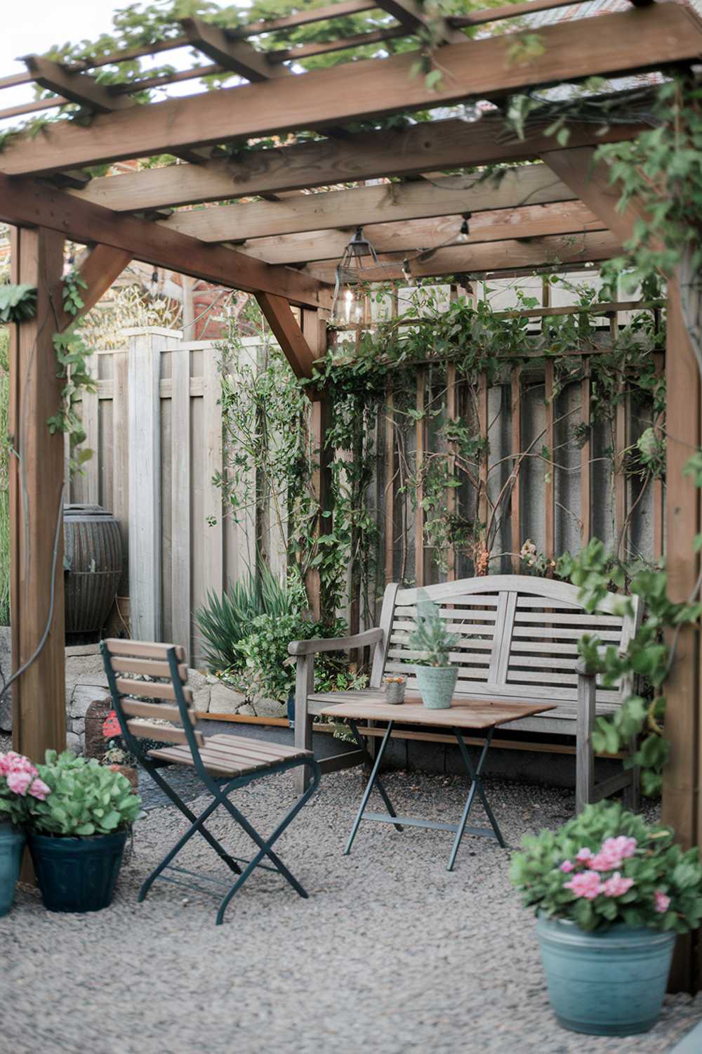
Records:
[[[229,871],[232,871],[237,879],[234,884],[227,889],[224,897],[222,898],[218,912],[217,912],[217,924],[220,925],[224,918],[224,912],[241,886],[244,884],[246,879],[252,875],[256,867],[262,867],[266,871],[275,871],[283,876],[293,886],[293,889],[301,897],[307,897],[307,893],[300,884],[300,882],[290,874],[288,868],[282,862],[282,860],[273,851],[274,844],[278,841],[280,836],[283,834],[285,828],[295,819],[297,814],[306,804],[308,799],[312,797],[314,792],[317,789],[320,781],[320,769],[317,761],[310,752],[300,752],[290,750],[289,748],[276,747],[273,744],[260,744],[259,746],[268,747],[272,752],[280,752],[286,749],[288,752],[288,757],[283,757],[279,761],[266,761],[265,765],[262,763],[257,763],[255,760],[252,761],[248,766],[250,770],[240,772],[239,775],[227,778],[225,776],[220,776],[219,778],[213,776],[209,770],[213,768],[212,763],[207,764],[207,761],[203,761],[201,756],[201,748],[206,747],[206,740],[203,738],[202,734],[194,727],[195,715],[194,710],[188,704],[183,690],[183,672],[186,671],[186,667],[183,664],[184,651],[182,648],[176,647],[173,644],[145,644],[142,642],[134,641],[120,641],[120,640],[107,640],[103,641],[100,645],[102,651],[102,658],[105,668],[105,674],[107,676],[107,682],[109,685],[109,690],[112,694],[113,702],[115,704],[115,711],[117,719],[119,721],[119,726],[122,733],[122,738],[126,748],[132,752],[138,759],[139,763],[146,769],[154,782],[164,792],[164,794],[171,799],[171,801],[176,805],[178,809],[183,814],[183,816],[189,821],[190,826],[183,834],[183,836],[178,840],[178,842],[173,846],[173,848],[166,854],[166,856],[161,860],[157,867],[148,875],[144,880],[139,890],[139,901],[144,900],[146,894],[148,893],[151,886],[157,878],[161,878],[164,881],[172,882],[175,885],[183,885],[187,889],[196,889],[201,893],[206,893],[209,895],[219,896],[219,894],[212,890],[206,889],[202,885],[196,885],[192,882],[185,882],[180,878],[174,878],[171,875],[166,876],[163,872],[167,868],[169,871],[175,871],[179,875],[187,875],[194,878],[198,878],[202,881],[214,882],[216,885],[219,884],[217,879],[204,878],[197,872],[188,871],[184,867],[178,867],[172,863],[172,860],[177,856],[178,853],[187,844],[190,838],[195,834],[200,834],[209,846],[217,853],[220,859],[227,865]],[[119,660],[120,665],[123,670],[131,670],[132,672],[139,674],[141,670],[154,671],[151,674],[153,677],[161,678],[160,681],[149,680],[149,681],[128,681],[122,682],[122,686],[128,687],[128,694],[120,690],[118,684],[118,672],[113,666],[113,661]],[[166,665],[167,664],[167,665]],[[158,670],[158,672],[156,672]],[[162,670],[162,671],[161,671]],[[171,685],[165,684],[165,678],[169,678]],[[139,686],[143,684],[143,692],[140,690]],[[173,689],[173,691],[169,690]],[[133,699],[133,696],[142,696],[144,699],[148,699],[149,702],[137,702]],[[154,698],[173,700],[177,704],[178,709],[174,709],[171,705],[164,705],[163,703],[154,703]],[[162,717],[168,721],[180,721],[182,724],[182,730],[180,728],[174,728],[168,726],[161,726],[155,724],[142,724],[131,725],[129,721],[133,717]],[[148,750],[144,748],[143,742],[140,742],[140,738],[149,739],[162,739],[166,742],[174,742],[183,744],[189,748],[192,755],[192,761],[189,759],[184,759],[186,763],[190,763],[195,768],[198,777],[200,778],[204,788],[213,796],[213,801],[200,814],[196,816],[190,808],[185,804],[183,799],[176,793],[176,790],[163,779],[159,773],[159,768],[163,766],[164,761],[160,764],[155,762],[155,760],[149,757],[152,755],[163,754],[161,750]],[[223,737],[226,739],[232,739],[233,742],[241,742],[239,737]],[[252,741],[252,747],[254,753],[256,753],[256,743],[258,741]],[[181,747],[182,749],[182,747]],[[246,749],[246,748],[244,748]],[[178,752],[171,752],[172,754],[177,754]],[[168,754],[168,750],[165,750]],[[174,759],[175,760],[175,759]],[[157,759],[158,761],[158,759]],[[301,765],[306,766],[310,770],[312,781],[309,787],[298,798],[293,807],[285,814],[281,822],[278,824],[274,833],[268,838],[263,838],[253,824],[246,819],[245,816],[234,805],[232,801],[228,800],[229,795],[239,789],[240,787],[247,786],[249,783],[273,774],[283,773],[290,768],[297,768]],[[220,766],[221,767],[221,766]],[[240,764],[239,768],[246,768]],[[234,820],[239,824],[239,826],[245,832],[246,835],[256,843],[258,846],[258,852],[250,860],[242,859],[241,857],[234,857],[232,854],[227,853],[223,845],[215,838],[210,831],[205,827],[205,821],[215,813],[217,808],[223,806]],[[267,858],[270,864],[265,864],[262,861]],[[245,867],[241,867],[240,863],[244,863]],[[228,883],[225,883],[228,885]]]

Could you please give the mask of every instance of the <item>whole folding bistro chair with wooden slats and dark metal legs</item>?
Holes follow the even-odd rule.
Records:
[[[306,897],[307,894],[282,860],[274,853],[273,846],[319,785],[319,765],[312,752],[278,743],[261,742],[243,736],[208,736],[205,739],[202,733],[195,727],[197,718],[193,707],[193,692],[185,686],[187,665],[182,647],[173,644],[146,644],[141,641],[121,640],[103,641],[100,647],[126,748],[138,758],[152,779],[178,806],[183,816],[190,821],[190,826],[182,838],[144,881],[139,891],[139,900],[144,899],[157,878],[173,882],[175,885],[185,885],[215,896],[219,895],[216,890],[203,889],[201,885],[193,885],[192,882],[184,881],[181,877],[163,874],[167,870],[175,872],[177,876],[200,878],[202,881],[219,885],[216,879],[203,878],[196,872],[178,867],[172,863],[196,833],[205,839],[229,871],[237,876],[230,887],[228,887],[228,883],[225,883],[226,892],[217,912],[218,925],[224,918],[224,912],[232,897],[241,889],[255,867],[279,872],[301,897]],[[167,702],[158,702],[157,700]],[[148,721],[135,720],[137,718],[157,718],[172,723],[167,725],[154,724]],[[179,727],[175,727],[175,724],[178,724]],[[175,745],[148,749],[147,744],[143,742],[145,739]],[[200,816],[195,816],[182,798],[160,775],[159,767],[162,767],[165,762],[192,765],[202,780],[203,786],[213,796],[213,801]],[[264,839],[228,800],[229,795],[238,787],[246,786],[263,776],[282,773],[299,765],[309,767],[312,772],[310,785],[298,798],[274,833]],[[252,860],[241,860],[240,857],[232,856],[205,827],[205,821],[220,805],[229,813],[258,845],[258,853]],[[262,863],[265,857],[273,866]],[[243,870],[239,866],[239,862],[245,863]]]

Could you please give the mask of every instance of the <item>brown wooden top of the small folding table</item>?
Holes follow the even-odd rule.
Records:
[[[494,728],[496,725],[529,718],[535,714],[556,709],[557,703],[517,703],[496,699],[470,699],[455,696],[450,707],[430,710],[422,703],[418,691],[405,692],[404,703],[397,705],[385,701],[382,689],[338,691],[339,702],[325,706],[321,713],[327,717],[352,718],[354,721],[401,721],[402,724],[438,725],[449,728]]]

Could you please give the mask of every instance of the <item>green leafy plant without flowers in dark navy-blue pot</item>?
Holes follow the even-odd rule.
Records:
[[[33,800],[27,844],[44,906],[97,912],[112,903],[141,798],[121,773],[69,750],[46,752],[39,776],[49,789]]]

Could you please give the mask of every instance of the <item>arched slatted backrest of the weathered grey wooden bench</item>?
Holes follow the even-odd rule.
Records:
[[[448,629],[461,635],[449,660],[459,667],[457,692],[479,698],[540,699],[558,702],[551,716],[574,717],[577,710],[578,641],[583,633],[604,644],[625,648],[640,620],[638,598],[631,614],[620,613],[621,597],[607,596],[595,614],[583,610],[579,588],[564,582],[521,574],[495,574],[427,586]],[[406,674],[416,687],[413,664],[418,653],[407,644],[417,611],[417,589],[388,586],[383,604],[385,652],[374,668],[372,683],[384,672]],[[380,645],[379,645],[380,647]],[[627,685],[598,683],[599,713],[609,713],[623,699]]]

